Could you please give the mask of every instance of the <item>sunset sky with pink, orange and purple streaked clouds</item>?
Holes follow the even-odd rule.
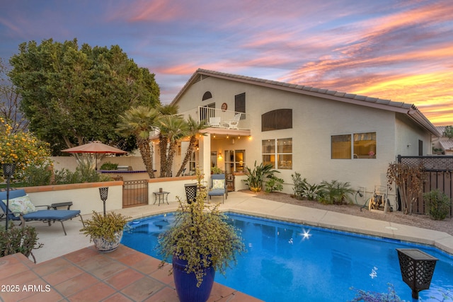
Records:
[[[119,45],[170,103],[198,69],[411,103],[453,124],[452,0],[0,0],[22,42]]]

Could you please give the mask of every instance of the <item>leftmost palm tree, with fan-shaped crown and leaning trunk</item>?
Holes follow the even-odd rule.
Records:
[[[155,178],[151,146],[149,146],[149,132],[154,130],[159,117],[159,111],[147,106],[132,107],[120,115],[117,124],[117,133],[129,137],[133,135],[137,139],[142,160],[147,168],[149,178]]]

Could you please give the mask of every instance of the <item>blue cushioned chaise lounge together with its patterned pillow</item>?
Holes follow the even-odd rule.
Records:
[[[36,210],[36,207],[46,207],[44,210]],[[24,190],[9,191],[9,209],[6,211],[6,191],[0,192],[0,208],[4,213],[8,213],[8,220],[21,221],[21,225],[25,226],[25,221],[42,221],[49,223],[59,221],[62,223],[64,235],[67,235],[64,229],[63,221],[73,219],[79,216],[82,224],[85,227],[84,219],[79,210],[55,210],[50,209],[50,206],[34,206]]]

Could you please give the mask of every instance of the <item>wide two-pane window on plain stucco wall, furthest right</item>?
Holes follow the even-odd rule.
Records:
[[[352,140],[353,138],[353,140]],[[352,153],[352,147],[353,153]],[[333,135],[331,137],[331,158],[376,158],[376,132]]]

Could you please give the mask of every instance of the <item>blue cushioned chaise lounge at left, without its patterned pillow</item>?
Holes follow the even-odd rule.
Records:
[[[73,219],[76,216],[79,216],[82,224],[85,227],[84,219],[80,214],[79,210],[55,210],[50,209],[50,206],[37,206],[37,207],[47,207],[45,210],[32,211],[27,214],[17,213],[16,211],[11,211],[11,199],[17,197],[25,197],[26,193],[24,190],[11,190],[9,192],[9,202],[10,209],[8,209],[8,220],[11,221],[21,221],[21,225],[25,226],[25,221],[42,221],[44,223],[49,223],[49,226],[52,222],[59,221],[62,223],[64,235],[67,235],[66,230],[64,229],[63,221]],[[3,202],[6,200],[6,191],[0,192],[0,208],[6,214],[6,204]],[[16,216],[16,215],[18,216]]]

